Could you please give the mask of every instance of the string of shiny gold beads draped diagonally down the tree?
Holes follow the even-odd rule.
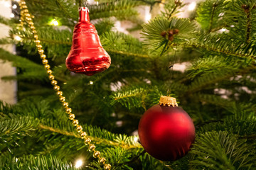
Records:
[[[111,165],[106,164],[106,159],[104,157],[100,157],[100,151],[95,150],[95,145],[91,144],[91,140],[89,137],[87,137],[86,132],[82,131],[82,126],[79,125],[78,120],[75,119],[75,115],[72,113],[72,109],[68,108],[68,102],[65,101],[65,96],[63,96],[63,92],[60,91],[60,86],[58,86],[58,81],[55,80],[55,77],[53,76],[53,71],[50,69],[50,65],[48,64],[48,60],[46,59],[46,55],[44,55],[43,46],[41,45],[41,41],[38,40],[38,34],[36,31],[36,27],[33,23],[33,16],[31,16],[30,13],[28,13],[28,6],[26,6],[26,1],[21,0],[20,2],[21,7],[21,26],[23,26],[23,23],[28,23],[29,28],[31,28],[31,31],[33,33],[34,42],[36,43],[36,48],[38,50],[38,53],[40,55],[40,58],[42,60],[42,63],[44,65],[44,68],[46,69],[46,72],[48,74],[48,78],[50,80],[50,84],[53,85],[53,89],[56,92],[56,94],[59,96],[60,102],[62,103],[63,107],[65,108],[65,113],[68,114],[68,118],[72,121],[72,124],[75,126],[78,133],[80,133],[80,137],[84,140],[85,145],[88,145],[88,149],[90,152],[93,152],[93,157],[98,159],[98,162],[104,167],[105,170],[110,170]]]

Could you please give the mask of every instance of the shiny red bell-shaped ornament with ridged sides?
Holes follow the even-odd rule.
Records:
[[[110,67],[111,59],[100,43],[95,26],[90,23],[89,9],[80,7],[79,16],[66,66],[71,72],[92,76]]]

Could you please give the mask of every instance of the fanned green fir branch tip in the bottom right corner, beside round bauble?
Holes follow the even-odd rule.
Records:
[[[191,153],[198,169],[250,169],[256,159],[254,144],[222,131],[198,135]]]

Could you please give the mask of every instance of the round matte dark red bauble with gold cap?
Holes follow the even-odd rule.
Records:
[[[161,96],[139,122],[139,140],[152,157],[175,161],[189,151],[196,132],[188,113],[177,107],[176,98]]]

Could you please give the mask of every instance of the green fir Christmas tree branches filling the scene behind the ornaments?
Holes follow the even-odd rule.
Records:
[[[175,18],[185,4],[174,0],[90,4],[90,20],[112,58],[93,77],[65,67],[79,2],[26,1],[63,96],[112,169],[255,169],[255,0],[202,1],[190,19]],[[164,11],[142,24],[137,7],[155,10],[159,3]],[[60,26],[50,26],[53,19]],[[134,26],[129,30],[142,28],[142,40],[114,29],[123,20]],[[28,25],[4,17],[0,23],[11,28],[1,45],[17,47],[16,55],[0,49],[0,59],[17,70],[1,79],[18,81],[18,103],[0,102],[0,169],[75,169],[70,162],[80,157],[82,169],[103,169],[53,92]],[[142,114],[166,94],[197,132],[191,152],[176,162],[154,159],[137,141]]]

